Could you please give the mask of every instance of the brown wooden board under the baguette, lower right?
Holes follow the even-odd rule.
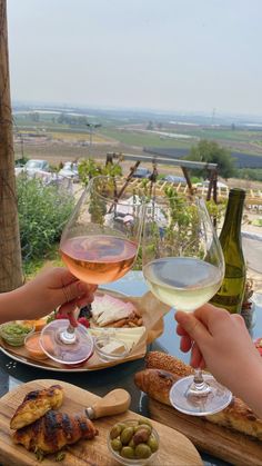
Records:
[[[152,419],[184,434],[202,452],[233,465],[262,466],[262,442],[201,417],[184,415],[152,398],[149,400],[149,410]]]

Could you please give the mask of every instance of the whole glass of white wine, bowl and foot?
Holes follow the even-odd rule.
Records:
[[[142,250],[149,288],[174,309],[192,313],[222,284],[223,252],[202,199],[188,201],[173,191],[152,199],[145,210]],[[231,397],[231,391],[201,369],[170,390],[171,404],[194,416],[220,412]]]

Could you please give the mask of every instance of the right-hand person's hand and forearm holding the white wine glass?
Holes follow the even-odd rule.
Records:
[[[212,305],[192,314],[178,311],[181,349],[191,353],[193,367],[206,367],[262,418],[262,359],[239,315]]]

